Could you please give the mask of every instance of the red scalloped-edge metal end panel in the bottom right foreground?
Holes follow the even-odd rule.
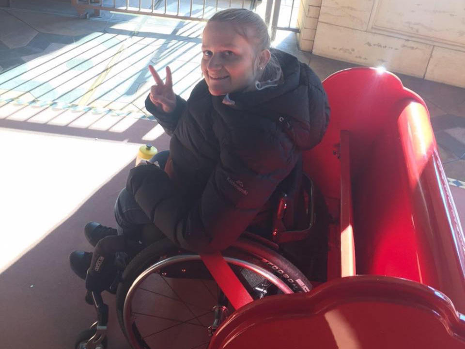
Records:
[[[354,276],[310,293],[264,298],[235,312],[209,349],[463,349],[465,317],[431,287]]]

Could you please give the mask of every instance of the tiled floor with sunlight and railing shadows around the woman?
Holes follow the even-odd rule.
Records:
[[[112,206],[140,144],[168,148],[169,137],[146,119],[146,67],[163,72],[169,64],[184,97],[201,79],[200,23],[114,14],[81,20],[64,3],[44,3],[48,14],[35,11],[38,2],[0,9],[2,348],[71,348],[94,321],[67,258],[90,249],[86,222],[114,225]],[[294,33],[279,32],[274,45],[321,79],[353,66],[299,51]],[[465,222],[465,90],[400,78],[428,104]],[[106,296],[111,306],[113,298]],[[110,318],[109,348],[128,348]]]

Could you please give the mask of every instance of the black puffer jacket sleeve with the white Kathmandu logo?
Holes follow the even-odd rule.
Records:
[[[155,166],[131,170],[142,173],[146,168],[158,174],[130,174],[126,188],[178,246],[198,253],[223,250],[244,232],[298,159],[291,142],[271,138],[248,129],[240,144],[221,144],[220,161],[192,206],[186,206],[168,176]]]

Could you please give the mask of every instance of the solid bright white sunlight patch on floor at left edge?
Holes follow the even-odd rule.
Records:
[[[139,146],[0,128],[0,272],[132,162]]]

